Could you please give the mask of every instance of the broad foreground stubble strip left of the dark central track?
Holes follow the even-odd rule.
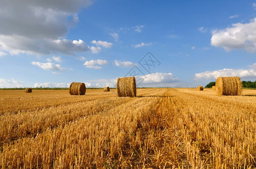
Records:
[[[1,166],[10,167],[97,167],[113,159],[125,159],[123,148],[134,137],[143,112],[157,105],[158,97],[125,98],[127,103],[66,126],[47,130],[35,138],[23,138],[5,144],[0,154]],[[111,104],[111,103],[110,103]],[[125,165],[123,163],[123,165]]]

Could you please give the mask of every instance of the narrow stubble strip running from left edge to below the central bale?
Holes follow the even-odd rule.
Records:
[[[36,136],[47,128],[54,128],[76,119],[107,112],[129,99],[106,98],[79,101],[33,112],[2,115],[0,117],[0,143],[8,143],[25,136]]]

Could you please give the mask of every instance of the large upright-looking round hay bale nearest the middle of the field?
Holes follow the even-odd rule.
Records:
[[[136,97],[136,80],[135,77],[125,77],[117,79],[118,97]]]

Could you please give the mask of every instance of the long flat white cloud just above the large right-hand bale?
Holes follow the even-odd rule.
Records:
[[[255,65],[255,64],[254,64]],[[217,79],[217,77],[237,76],[241,78],[255,78],[256,69],[222,69],[215,71],[207,71],[203,73],[195,73],[195,79]]]

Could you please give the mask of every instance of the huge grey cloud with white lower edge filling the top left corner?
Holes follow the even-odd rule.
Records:
[[[11,55],[50,55],[88,51],[82,41],[65,39],[89,0],[3,0],[0,6],[0,46]]]

